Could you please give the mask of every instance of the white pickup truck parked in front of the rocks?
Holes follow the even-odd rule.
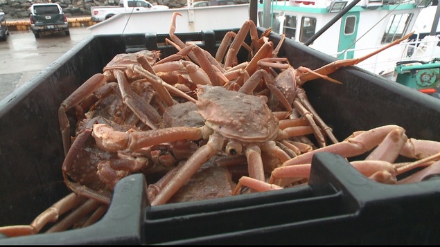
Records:
[[[96,6],[91,7],[91,20],[104,21],[119,13],[148,12],[152,10],[167,10],[168,6],[152,5],[145,0],[121,0],[119,6]]]

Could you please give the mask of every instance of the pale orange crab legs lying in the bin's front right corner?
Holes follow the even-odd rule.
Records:
[[[245,186],[252,187],[253,190],[260,192],[280,190],[292,181],[308,179],[311,167],[310,162],[313,155],[318,152],[331,152],[344,158],[353,158],[368,153],[364,160],[351,161],[350,163],[364,176],[379,183],[402,184],[419,182],[425,176],[436,174],[439,170],[439,142],[407,138],[405,129],[402,127],[398,125],[384,125],[368,131],[355,131],[341,143],[321,147],[291,158],[272,171],[267,183],[243,176],[240,178],[234,194],[240,194],[240,188]],[[416,159],[417,161],[394,163],[400,155]],[[417,167],[425,167],[425,169],[398,181],[398,175]],[[282,184],[281,179],[288,180],[289,182]]]

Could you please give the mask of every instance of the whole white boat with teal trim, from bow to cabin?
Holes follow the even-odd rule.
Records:
[[[275,33],[340,60],[362,57],[414,31],[408,42],[357,64],[394,81],[398,62],[429,62],[440,57],[440,29],[435,25],[436,32],[430,32],[434,20],[438,24],[438,0],[251,0],[198,8],[193,2],[188,0],[189,8],[122,13],[89,29],[93,35],[168,33],[170,21],[158,20],[170,20],[173,12],[181,15],[176,19],[176,33],[240,28],[252,19],[257,26],[272,28]]]

